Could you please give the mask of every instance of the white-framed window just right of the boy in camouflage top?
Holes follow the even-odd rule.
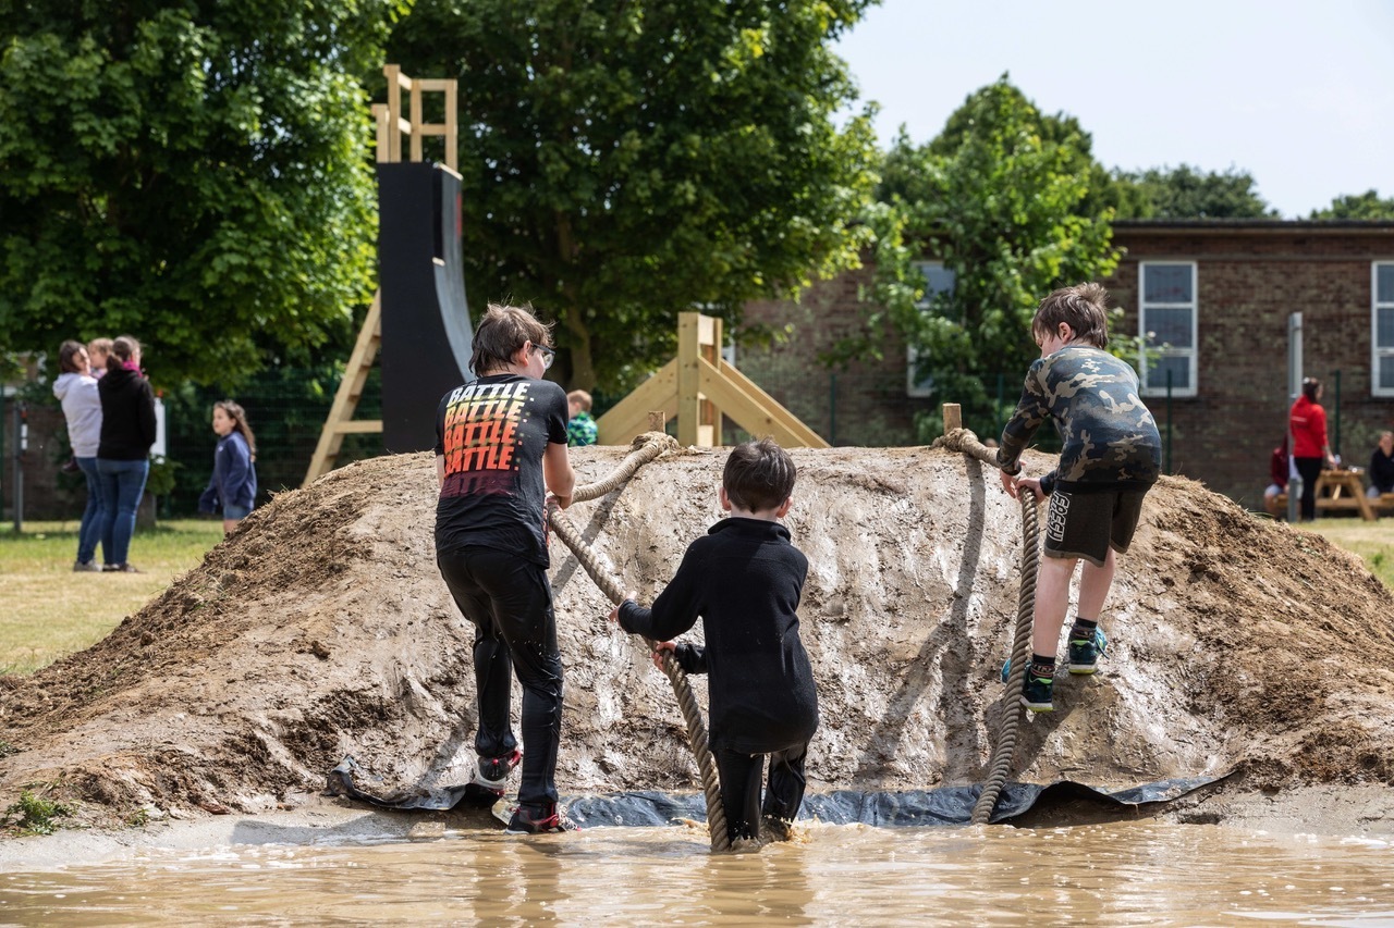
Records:
[[[1146,340],[1143,396],[1196,396],[1196,262],[1138,265],[1138,332]]]

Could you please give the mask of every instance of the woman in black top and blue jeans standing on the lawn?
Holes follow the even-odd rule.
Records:
[[[128,555],[156,435],[155,392],[141,373],[139,341],[120,336],[112,343],[98,394],[102,397],[102,440],[96,450],[96,472],[102,484],[102,553],[106,559],[102,569],[138,574]]]

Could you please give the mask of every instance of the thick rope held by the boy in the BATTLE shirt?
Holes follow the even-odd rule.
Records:
[[[634,439],[634,450],[625,457],[613,474],[602,481],[577,486],[572,495],[572,500],[584,503],[625,486],[640,467],[673,447],[677,447],[677,442],[662,432],[640,435]],[[595,557],[595,552],[591,550],[585,539],[581,538],[581,534],[576,531],[572,521],[562,513],[555,499],[548,502],[548,520],[551,521],[552,531],[572,549],[576,560],[585,569],[585,573],[595,581],[601,592],[615,605],[623,602],[625,589],[601,566]],[[648,645],[650,652],[657,649],[658,642],[654,640],[644,638],[644,642]],[[711,757],[711,745],[707,740],[707,725],[701,718],[701,706],[697,705],[697,697],[687,681],[687,674],[677,665],[677,660],[673,659],[673,652],[662,651],[659,654],[662,655],[664,676],[668,677],[668,683],[673,687],[673,695],[677,697],[677,708],[682,711],[683,722],[687,725],[687,744],[691,747],[693,759],[697,761],[697,769],[701,773],[703,793],[707,796],[707,830],[711,837],[711,849],[714,851],[730,850],[730,837],[726,835],[726,810],[721,803],[721,780],[717,776],[717,762]]]

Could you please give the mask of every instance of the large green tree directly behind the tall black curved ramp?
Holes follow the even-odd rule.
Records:
[[[466,286],[558,320],[559,378],[618,390],[676,314],[853,266],[868,114],[829,45],[870,0],[418,0],[389,57],[460,79]]]

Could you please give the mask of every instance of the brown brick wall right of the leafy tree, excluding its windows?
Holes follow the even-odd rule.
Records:
[[[1186,229],[1119,224],[1126,256],[1104,280],[1138,330],[1139,261],[1195,261],[1197,396],[1170,405],[1172,471],[1259,507],[1269,453],[1287,428],[1288,314],[1301,311],[1303,372],[1326,383],[1333,446],[1340,371],[1341,453],[1369,460],[1374,433],[1394,428],[1394,400],[1370,396],[1370,262],[1394,261],[1394,226],[1273,223]],[[1168,407],[1149,397],[1165,438]]]

